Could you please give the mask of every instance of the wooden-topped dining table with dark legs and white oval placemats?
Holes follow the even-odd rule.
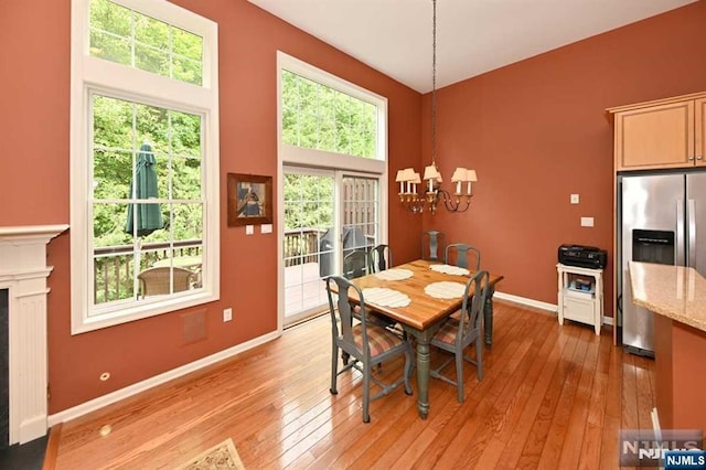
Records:
[[[382,313],[398,322],[407,334],[413,335],[417,342],[417,408],[419,416],[426,419],[429,414],[429,343],[445,320],[461,308],[463,286],[473,276],[474,271],[443,265],[438,261],[417,259],[404,265],[395,266],[385,271],[368,274],[351,279],[363,291],[365,307],[377,313]],[[495,285],[503,276],[489,273],[489,293],[483,307],[483,333],[485,345],[493,342],[493,293]],[[456,292],[445,292],[443,289],[434,288],[454,287]],[[366,296],[365,289],[386,289],[409,298],[406,302],[377,301],[374,296]],[[373,290],[367,290],[373,292]],[[458,295],[453,295],[458,293]],[[356,293],[350,292],[351,300],[359,301]],[[368,298],[370,297],[370,298]]]

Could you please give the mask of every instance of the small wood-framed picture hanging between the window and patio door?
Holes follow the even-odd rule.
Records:
[[[228,173],[228,226],[272,223],[272,177]]]

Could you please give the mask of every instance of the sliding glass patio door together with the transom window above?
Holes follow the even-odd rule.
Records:
[[[322,278],[386,243],[387,99],[278,54],[280,323],[327,307]]]

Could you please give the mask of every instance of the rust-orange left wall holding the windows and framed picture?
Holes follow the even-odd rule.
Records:
[[[276,51],[388,98],[391,168],[420,159],[421,95],[245,0],[179,0],[220,25],[221,301],[71,335],[69,236],[49,248],[50,414],[143,381],[277,328],[276,235],[226,226],[226,173],[277,173]],[[0,225],[69,218],[69,0],[0,3]],[[394,179],[394,174],[392,175]],[[394,180],[391,181],[394,188]],[[275,184],[277,199],[278,184]],[[389,213],[396,258],[419,249],[421,221]],[[277,227],[275,227],[277,229]],[[234,321],[221,312],[233,307]],[[182,344],[183,314],[205,311],[205,340]],[[100,382],[103,372],[108,382]]]

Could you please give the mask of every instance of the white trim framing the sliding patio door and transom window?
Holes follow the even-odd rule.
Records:
[[[306,78],[312,79],[322,85],[346,93],[362,100],[373,103],[377,106],[377,148],[376,158],[366,159],[361,157],[351,157],[325,150],[306,149],[301,147],[290,146],[282,142],[282,70],[293,72]],[[311,64],[296,58],[281,51],[277,51],[277,181],[279,184],[279,197],[277,211],[277,331],[284,330],[285,322],[285,261],[284,261],[284,244],[285,244],[285,204],[284,204],[284,173],[285,165],[301,165],[308,168],[341,170],[345,174],[360,177],[378,177],[379,178],[379,231],[381,243],[387,243],[388,217],[387,217],[387,173],[388,173],[388,152],[387,152],[387,98],[359,85],[340,78],[329,72],[322,71]],[[341,175],[336,175],[338,179]],[[336,181],[336,188],[340,186]],[[340,206],[340,194],[335,194],[335,205]],[[335,217],[340,217],[336,211]],[[339,226],[340,222],[335,222]]]

